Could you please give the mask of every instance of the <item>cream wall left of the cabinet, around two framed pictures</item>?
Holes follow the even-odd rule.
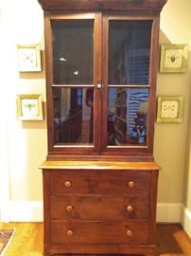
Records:
[[[4,186],[9,185],[9,191],[4,191],[2,197],[5,199],[6,195],[9,196],[10,206],[12,202],[21,206],[22,202],[42,201],[42,174],[38,168],[45,159],[47,142],[44,63],[43,72],[19,73],[16,46],[40,43],[42,50],[44,49],[43,10],[36,0],[3,0],[0,2],[0,9],[0,126],[1,137],[4,138],[1,139],[0,147],[0,155],[4,158],[0,180],[1,183],[4,182]],[[17,120],[16,95],[27,93],[43,95],[43,121]],[[8,174],[9,181],[6,182]],[[20,210],[22,211],[21,207]],[[8,215],[3,217],[3,220],[6,219],[9,219]]]

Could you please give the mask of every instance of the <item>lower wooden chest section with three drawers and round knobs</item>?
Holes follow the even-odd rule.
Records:
[[[44,255],[155,255],[159,167],[81,163],[42,167]]]

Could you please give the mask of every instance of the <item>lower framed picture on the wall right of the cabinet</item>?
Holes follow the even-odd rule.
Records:
[[[183,97],[159,96],[157,122],[182,122]]]

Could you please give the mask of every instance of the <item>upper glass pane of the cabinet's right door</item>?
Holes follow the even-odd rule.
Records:
[[[151,21],[110,22],[110,84],[148,84]]]

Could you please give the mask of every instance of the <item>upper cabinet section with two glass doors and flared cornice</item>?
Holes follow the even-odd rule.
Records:
[[[166,1],[39,2],[46,10],[48,156],[152,157]]]

